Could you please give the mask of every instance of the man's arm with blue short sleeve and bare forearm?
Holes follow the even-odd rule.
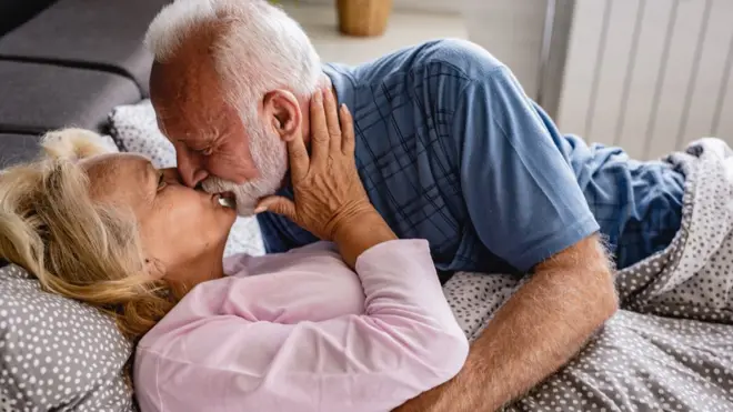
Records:
[[[617,305],[573,148],[485,50],[452,42],[445,57],[443,70],[459,68],[463,79],[456,100],[440,102],[452,113],[444,134],[459,148],[471,224],[491,253],[535,273],[489,322],[462,372],[400,411],[498,409],[562,366]]]

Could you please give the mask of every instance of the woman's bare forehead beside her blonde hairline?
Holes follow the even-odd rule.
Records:
[[[155,169],[144,157],[132,153],[100,154],[81,161],[93,199],[131,203],[145,195],[145,184]]]

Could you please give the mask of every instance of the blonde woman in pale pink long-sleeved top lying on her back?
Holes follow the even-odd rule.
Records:
[[[275,201],[330,242],[223,262],[227,194],[67,130],[0,174],[0,257],[139,341],[143,411],[399,406],[454,376],[468,342],[426,242],[396,240],[369,203],[351,117],[328,101],[311,104],[310,154],[287,143],[294,203]]]

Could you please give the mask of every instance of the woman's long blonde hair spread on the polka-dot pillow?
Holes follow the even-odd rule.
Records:
[[[0,171],[0,257],[44,290],[110,314],[135,341],[173,302],[145,273],[133,214],[90,197],[79,160],[108,150],[81,129],[48,133],[41,147],[39,160]]]

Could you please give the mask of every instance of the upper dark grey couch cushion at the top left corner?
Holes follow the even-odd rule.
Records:
[[[148,24],[168,0],[59,0],[0,39],[0,57],[94,67],[127,76],[148,94]]]

